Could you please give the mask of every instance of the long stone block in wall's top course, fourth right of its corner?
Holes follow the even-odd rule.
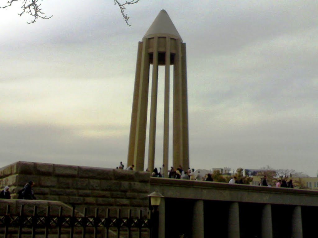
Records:
[[[113,173],[113,169],[101,169],[101,168],[95,168],[95,167],[79,166],[79,177],[113,180],[114,173]]]

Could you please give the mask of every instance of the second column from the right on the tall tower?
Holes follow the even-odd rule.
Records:
[[[183,165],[182,153],[182,59],[181,42],[176,40],[173,70],[173,166]],[[187,168],[184,168],[187,169]]]

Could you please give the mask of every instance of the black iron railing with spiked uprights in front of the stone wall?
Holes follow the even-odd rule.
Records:
[[[75,215],[75,207],[72,208],[72,214],[68,216],[63,214],[63,207],[59,207],[58,215],[50,215],[50,207],[46,208],[45,215],[38,215],[37,211],[38,207],[34,206],[32,215],[24,215],[24,205],[21,205],[19,215],[10,215],[10,205],[7,205],[5,214],[0,215],[0,229],[4,231],[3,237],[8,238],[9,234],[17,234],[18,238],[23,237],[23,234],[30,237],[31,233],[32,238],[35,238],[37,234],[44,234],[45,238],[49,234],[54,234],[60,238],[63,233],[73,238],[76,231],[77,237],[80,234],[82,238],[141,238],[148,237],[150,230],[150,219],[143,218],[142,211],[137,218],[132,217],[130,209],[127,217],[121,216],[121,209],[117,209],[117,216],[112,217],[108,208],[105,217],[100,216],[98,208],[95,209],[93,217],[87,216],[87,208],[84,209],[82,216]]]

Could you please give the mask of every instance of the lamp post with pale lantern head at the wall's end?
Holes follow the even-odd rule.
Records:
[[[162,196],[162,194],[160,194],[158,191],[155,191],[149,194],[148,197],[150,197],[150,205],[153,207],[153,210],[151,211],[151,215],[150,215],[150,221],[151,221],[150,237],[158,238],[158,233],[159,233],[158,207],[160,205],[161,198],[164,196]]]

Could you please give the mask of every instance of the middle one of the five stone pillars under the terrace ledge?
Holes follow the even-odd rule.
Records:
[[[232,202],[229,207],[228,238],[239,238],[239,203]]]

